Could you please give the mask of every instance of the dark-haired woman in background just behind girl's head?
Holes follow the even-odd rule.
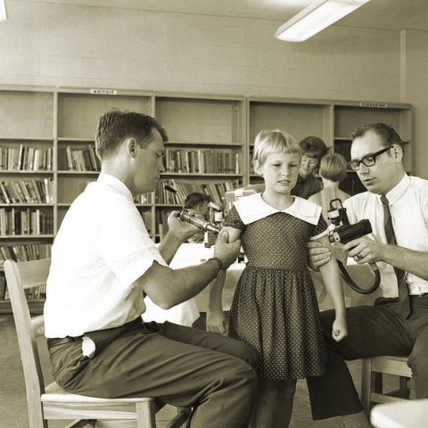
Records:
[[[319,162],[327,154],[325,142],[317,136],[307,136],[300,141],[301,162],[299,177],[292,189],[292,195],[308,199],[311,194],[321,190],[321,183],[315,177]]]

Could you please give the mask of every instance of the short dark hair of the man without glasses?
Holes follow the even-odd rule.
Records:
[[[128,110],[107,111],[98,121],[95,133],[96,154],[101,160],[111,157],[127,138],[135,138],[141,147],[145,147],[151,142],[152,129],[159,131],[165,143],[168,141],[167,132],[152,116]]]

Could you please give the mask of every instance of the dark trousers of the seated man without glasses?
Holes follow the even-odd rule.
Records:
[[[192,427],[248,425],[258,369],[249,345],[140,318],[119,335],[115,329],[110,337],[87,335],[96,344],[91,359],[82,355],[81,340],[50,350],[53,377],[65,390],[104,398],[157,397],[173,406],[195,407]]]

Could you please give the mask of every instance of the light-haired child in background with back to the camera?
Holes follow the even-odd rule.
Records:
[[[342,202],[350,198],[350,194],[343,192],[339,184],[346,177],[347,163],[342,154],[326,154],[321,158],[319,165],[319,175],[323,180],[323,190],[309,196],[309,201],[315,202],[323,208],[323,217],[327,224],[331,224],[328,219],[330,201],[340,199]]]

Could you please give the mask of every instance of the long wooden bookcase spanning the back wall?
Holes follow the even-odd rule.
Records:
[[[164,184],[176,185],[182,199],[190,191],[208,188],[214,201],[224,202],[222,192],[226,185],[240,187],[258,181],[251,174],[250,163],[254,138],[261,129],[281,128],[299,141],[309,135],[320,136],[331,151],[347,157],[355,128],[374,121],[387,122],[406,141],[405,165],[412,172],[410,104],[0,86],[0,183],[3,187],[4,183],[6,187],[12,183],[15,188],[16,182],[31,185],[38,181],[49,188],[49,197],[41,202],[0,199],[0,247],[10,251],[13,247],[25,248],[30,252],[25,257],[49,256],[50,245],[71,202],[98,176],[99,164],[93,152],[91,158],[95,128],[100,116],[111,108],[150,114],[169,135],[165,144],[166,171],[158,189],[136,198],[149,233],[157,241],[167,231],[170,210],[180,207],[172,193],[166,195]],[[23,148],[37,151],[38,157],[47,157],[48,166],[31,166],[39,165],[36,161],[21,162],[19,167],[12,161],[4,163],[4,157],[16,155]],[[349,193],[363,190],[353,172],[345,187]],[[31,231],[21,229],[16,220],[26,215],[33,218]],[[10,312],[3,296],[4,275],[0,268],[0,313]],[[31,301],[33,308],[39,309],[42,304],[43,295]]]

